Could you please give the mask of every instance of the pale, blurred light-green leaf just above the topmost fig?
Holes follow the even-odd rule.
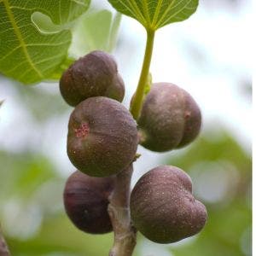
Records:
[[[116,44],[120,16],[113,17],[107,9],[82,16],[73,27],[70,53],[80,56],[95,49],[111,52]]]

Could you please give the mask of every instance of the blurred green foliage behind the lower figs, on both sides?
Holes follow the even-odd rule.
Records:
[[[13,255],[108,255],[112,234],[84,234],[68,220],[61,195],[65,179],[56,174],[49,160],[29,152],[10,154],[2,151],[0,162],[1,219]],[[251,255],[250,155],[225,131],[219,132],[215,138],[209,132],[182,154],[173,154],[168,164],[189,172],[195,184],[195,195],[207,205],[208,210],[205,229],[188,241],[168,246],[170,255]],[[215,172],[218,172],[217,178]],[[213,195],[207,195],[207,189]],[[214,197],[214,193],[218,196]],[[16,215],[6,216],[10,211],[10,201],[20,208],[14,206]],[[38,229],[32,233],[25,226],[29,224],[26,218],[31,218],[31,214],[26,212],[31,206],[38,206],[37,214],[42,215]],[[20,213],[22,211],[25,212]],[[8,220],[11,224],[6,225],[4,220],[8,217],[12,218]],[[17,227],[19,221],[24,226]],[[20,228],[28,228],[30,234],[10,232],[10,229]],[[139,236],[138,242],[143,242],[143,236]],[[142,255],[138,249],[136,255]]]

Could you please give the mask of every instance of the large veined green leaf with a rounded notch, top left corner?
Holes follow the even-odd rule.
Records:
[[[0,72],[24,84],[49,77],[67,58],[67,23],[89,5],[90,0],[0,0]],[[32,19],[37,12],[49,16],[58,30],[40,29],[43,22],[37,22],[37,15]],[[45,24],[49,27],[49,20]]]

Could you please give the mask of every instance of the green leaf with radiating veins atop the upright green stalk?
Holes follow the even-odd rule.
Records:
[[[198,0],[108,0],[124,15],[138,20],[153,31],[172,22],[182,21],[195,13]]]

